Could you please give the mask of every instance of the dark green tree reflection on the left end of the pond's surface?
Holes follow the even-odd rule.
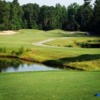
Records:
[[[19,59],[0,58],[0,72],[8,67],[17,69],[20,65],[23,65],[23,62]]]

